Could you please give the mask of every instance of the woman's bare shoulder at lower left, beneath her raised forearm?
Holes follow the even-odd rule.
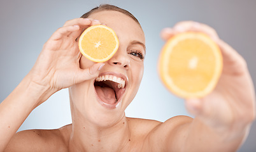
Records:
[[[5,151],[68,151],[71,125],[60,129],[32,129],[17,132]]]

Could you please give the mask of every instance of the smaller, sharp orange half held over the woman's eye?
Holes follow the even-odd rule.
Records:
[[[105,25],[93,25],[80,36],[80,52],[91,61],[104,62],[117,52],[119,41],[114,30]]]

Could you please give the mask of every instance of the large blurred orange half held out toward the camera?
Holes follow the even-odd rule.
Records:
[[[184,32],[166,42],[158,68],[169,91],[181,98],[201,98],[215,88],[222,65],[220,49],[208,35]]]

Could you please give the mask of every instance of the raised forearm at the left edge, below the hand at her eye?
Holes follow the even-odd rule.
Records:
[[[6,147],[36,106],[50,97],[46,87],[39,86],[25,77],[11,94],[0,104],[0,151]]]

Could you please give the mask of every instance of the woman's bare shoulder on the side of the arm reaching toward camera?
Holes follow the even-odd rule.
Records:
[[[170,146],[176,151],[192,120],[193,118],[187,116],[176,116],[156,125],[148,132],[143,151],[166,151],[164,148],[170,149]]]

